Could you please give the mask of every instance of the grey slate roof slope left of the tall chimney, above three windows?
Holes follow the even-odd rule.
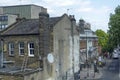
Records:
[[[3,31],[3,35],[36,34],[38,33],[38,28],[38,20],[24,20],[7,28]]]

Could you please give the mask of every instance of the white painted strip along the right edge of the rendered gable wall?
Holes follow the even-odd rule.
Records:
[[[74,64],[74,73],[79,71],[79,57],[80,57],[80,54],[79,54],[79,36],[74,35],[74,44],[72,43],[72,37],[70,37],[70,67],[71,67],[71,74],[73,73],[72,72],[73,64]],[[74,58],[74,61],[72,61],[73,58]]]

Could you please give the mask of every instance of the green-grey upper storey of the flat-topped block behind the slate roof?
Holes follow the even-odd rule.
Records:
[[[13,14],[18,15],[20,18],[38,19],[40,12],[47,13],[47,9],[37,5],[14,5],[14,6],[1,6],[0,14]]]

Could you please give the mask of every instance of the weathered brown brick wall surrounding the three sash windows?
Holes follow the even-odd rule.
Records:
[[[14,42],[14,56],[9,55],[9,42]],[[25,56],[19,55],[19,42],[24,42],[24,53],[28,56],[28,43],[34,42],[35,44],[35,54],[34,57],[28,57],[28,64],[30,64],[29,67],[38,67],[38,37],[36,35],[32,36],[7,36],[4,37],[4,57],[7,61],[15,61],[16,66],[22,66],[23,60]]]

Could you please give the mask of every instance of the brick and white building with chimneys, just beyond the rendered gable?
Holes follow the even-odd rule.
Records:
[[[86,60],[98,56],[98,38],[91,30],[91,25],[83,19],[80,19],[78,28],[80,30],[80,63],[84,64]]]

